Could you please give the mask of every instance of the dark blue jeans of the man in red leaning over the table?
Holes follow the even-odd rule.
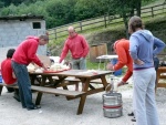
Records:
[[[19,64],[12,61],[12,67],[18,80],[19,94],[22,107],[33,108],[34,104],[32,103],[31,83],[27,65]]]

